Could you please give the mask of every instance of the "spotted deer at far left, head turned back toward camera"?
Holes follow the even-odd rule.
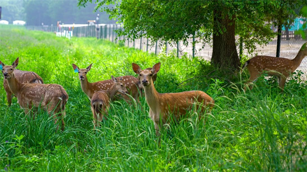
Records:
[[[40,83],[21,83],[15,77],[14,70],[17,67],[19,58],[12,65],[4,65],[0,61],[4,79],[8,82],[9,88],[16,95],[21,109],[25,114],[29,114],[32,108],[42,107],[54,118],[57,124],[58,117],[61,118],[61,130],[64,130],[65,105],[68,101],[68,94],[61,85],[40,84]],[[57,127],[58,129],[58,127]]]

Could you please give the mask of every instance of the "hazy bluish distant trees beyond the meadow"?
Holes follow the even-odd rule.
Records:
[[[40,26],[41,23],[56,26],[57,21],[65,24],[85,24],[87,20],[96,20],[98,14],[98,12],[94,13],[94,4],[88,4],[86,8],[78,8],[77,0],[26,0],[24,8],[26,22],[30,26]],[[99,14],[99,23],[115,23],[115,21],[108,20],[108,15],[105,12]]]

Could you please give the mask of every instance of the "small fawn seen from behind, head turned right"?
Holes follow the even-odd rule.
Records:
[[[100,122],[107,115],[108,109],[110,107],[110,101],[114,100],[117,92],[122,94],[128,93],[125,83],[122,81],[122,77],[118,80],[112,76],[112,81],[114,82],[111,87],[104,91],[96,91],[93,94],[91,100],[91,107],[94,117],[94,129],[100,126]]]

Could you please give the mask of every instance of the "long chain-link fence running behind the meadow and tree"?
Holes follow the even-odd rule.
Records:
[[[306,22],[306,18],[296,18],[292,25],[288,28],[282,27],[281,29],[281,41],[280,41],[280,57],[293,59],[297,55],[300,47],[306,40],[302,39],[301,35],[294,34],[297,30],[307,31],[306,28],[302,28],[303,24]],[[159,54],[165,52],[173,52],[177,54],[178,57],[183,54],[194,57],[199,56],[203,59],[210,60],[212,56],[212,47],[209,44],[195,43],[192,45],[193,41],[197,41],[198,38],[188,39],[188,45],[184,45],[183,41],[178,41],[174,43],[165,43],[163,46],[160,45],[160,41],[152,42],[150,39],[147,39],[145,36],[141,39],[136,40],[125,40],[124,36],[119,37],[115,30],[123,29],[121,24],[95,24],[93,26],[74,26],[63,25],[63,26],[41,26],[33,27],[27,26],[27,29],[30,30],[41,30],[47,32],[54,32],[57,36],[74,36],[74,37],[97,37],[98,39],[107,39],[109,41],[118,43],[119,41],[123,42],[125,46],[139,48],[143,51],[148,51],[150,53]],[[274,32],[277,32],[277,28],[271,28]],[[70,32],[71,31],[71,32]],[[68,35],[69,34],[69,35]],[[237,37],[238,38],[238,37]],[[125,40],[125,41],[124,41]],[[239,47],[237,47],[239,52]],[[248,57],[253,57],[255,55],[265,55],[276,57],[277,51],[277,36],[267,45],[256,45],[256,51],[253,54],[248,54],[247,51],[243,51],[244,55]],[[298,67],[298,70],[307,73],[307,58],[304,59],[301,65]],[[304,76],[304,79],[307,77]]]

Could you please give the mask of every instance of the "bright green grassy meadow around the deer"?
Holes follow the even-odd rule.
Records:
[[[198,58],[148,54],[96,38],[59,38],[53,33],[0,28],[0,60],[38,73],[69,94],[65,130],[38,111],[35,119],[14,97],[8,107],[0,77],[0,171],[306,171],[307,82],[298,72],[280,93],[274,78],[260,77],[243,91],[248,73],[229,75]],[[158,92],[202,90],[215,100],[211,113],[197,112],[171,124],[158,144],[145,97],[142,105],[113,102],[107,120],[93,129],[90,100],[72,63],[90,82],[132,75],[161,62]],[[228,74],[228,75],[226,75]],[[141,108],[143,107],[143,108]]]

